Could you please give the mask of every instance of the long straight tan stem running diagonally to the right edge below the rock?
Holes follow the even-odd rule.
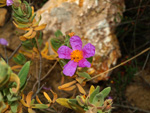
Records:
[[[91,79],[89,79],[89,80],[87,80],[87,81],[93,80],[93,79],[95,79],[95,78],[97,78],[97,77],[99,77],[99,76],[101,76],[101,75],[103,75],[103,74],[105,74],[105,73],[108,73],[108,72],[110,72],[110,71],[112,71],[112,70],[114,70],[114,69],[116,69],[116,68],[118,68],[118,67],[120,67],[120,66],[126,64],[127,62],[129,62],[129,61],[135,59],[136,57],[142,55],[143,53],[145,53],[145,52],[147,52],[147,51],[149,51],[149,50],[150,50],[150,47],[147,48],[147,49],[145,49],[145,50],[143,50],[142,52],[140,52],[139,54],[135,55],[134,57],[132,57],[132,58],[130,58],[130,59],[128,59],[128,60],[126,60],[126,61],[124,61],[124,62],[118,64],[117,66],[115,66],[115,67],[113,67],[113,68],[110,68],[110,69],[107,70],[107,71],[104,71],[103,73],[100,73],[100,74],[98,74],[98,75],[92,77]]]

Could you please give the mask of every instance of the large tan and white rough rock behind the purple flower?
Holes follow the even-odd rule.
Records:
[[[40,24],[47,24],[43,31],[45,39],[59,29],[64,34],[74,32],[84,44],[92,43],[96,55],[89,72],[95,76],[115,65],[121,56],[114,30],[124,9],[124,0],[49,0],[37,11],[36,18],[41,15]],[[94,82],[106,80],[108,75],[105,73]]]

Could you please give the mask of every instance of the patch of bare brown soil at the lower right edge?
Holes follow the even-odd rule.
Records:
[[[135,80],[126,89],[127,100],[132,106],[150,111],[150,70],[137,73]]]

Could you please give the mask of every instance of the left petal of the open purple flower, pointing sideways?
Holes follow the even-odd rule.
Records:
[[[71,59],[70,57],[71,52],[72,52],[72,49],[70,49],[67,46],[61,46],[57,51],[59,58],[64,58],[64,59]]]

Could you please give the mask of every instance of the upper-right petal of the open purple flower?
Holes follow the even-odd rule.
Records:
[[[84,58],[89,58],[95,55],[95,46],[93,46],[91,43],[88,43],[83,47],[82,51]]]

